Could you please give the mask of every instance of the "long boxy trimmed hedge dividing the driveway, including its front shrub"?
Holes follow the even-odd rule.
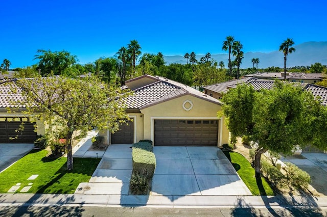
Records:
[[[130,190],[135,195],[148,194],[154,174],[156,159],[152,145],[148,142],[133,144],[133,173],[130,179]]]

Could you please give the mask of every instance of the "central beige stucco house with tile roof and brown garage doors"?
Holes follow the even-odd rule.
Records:
[[[133,119],[114,134],[101,132],[111,144],[152,140],[155,146],[222,146],[229,131],[217,118],[221,102],[164,77],[143,75],[125,82],[134,91],[126,112]]]

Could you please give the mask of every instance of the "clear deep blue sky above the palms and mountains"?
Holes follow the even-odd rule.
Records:
[[[232,35],[244,51],[327,41],[326,0],[309,1],[2,1],[0,62],[29,66],[37,49],[67,50],[80,63],[111,57],[130,40],[166,56],[223,53]]]

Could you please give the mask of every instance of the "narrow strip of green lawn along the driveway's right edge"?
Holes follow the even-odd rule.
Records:
[[[274,195],[264,178],[261,178],[261,183],[260,181],[259,183],[256,182],[254,168],[242,154],[227,151],[224,151],[224,154],[231,161],[231,164],[253,195]]]

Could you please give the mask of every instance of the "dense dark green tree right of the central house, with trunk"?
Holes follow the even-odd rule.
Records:
[[[267,150],[289,155],[297,146],[326,148],[326,107],[299,86],[276,81],[271,90],[258,92],[252,86],[239,85],[229,90],[222,102],[232,137],[248,135],[258,143],[254,160],[257,178],[261,154]]]

